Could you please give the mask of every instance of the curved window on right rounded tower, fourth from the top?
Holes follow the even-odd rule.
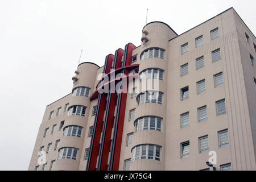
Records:
[[[140,130],[162,131],[162,118],[159,117],[142,117],[134,122],[135,132]]]

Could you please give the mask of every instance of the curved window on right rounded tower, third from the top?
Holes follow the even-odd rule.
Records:
[[[137,97],[138,105],[147,103],[163,104],[163,93],[156,91],[147,91],[140,93]]]

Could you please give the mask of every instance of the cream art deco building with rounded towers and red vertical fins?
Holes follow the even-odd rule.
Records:
[[[255,44],[233,8],[181,35],[148,23],[141,46],[77,67],[72,93],[46,107],[29,170],[208,170],[210,151],[217,170],[255,170]],[[118,73],[138,86],[98,93]]]

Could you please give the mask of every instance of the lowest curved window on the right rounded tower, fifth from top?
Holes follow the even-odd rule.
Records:
[[[153,159],[160,161],[161,149],[162,147],[156,146],[154,144],[142,144],[135,146],[131,150],[131,160],[134,161],[139,159]]]

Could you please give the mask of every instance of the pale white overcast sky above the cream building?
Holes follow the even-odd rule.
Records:
[[[0,1],[0,170],[27,170],[46,105],[71,92],[82,61],[131,42],[147,22],[181,34],[234,7],[255,35],[256,1]]]

